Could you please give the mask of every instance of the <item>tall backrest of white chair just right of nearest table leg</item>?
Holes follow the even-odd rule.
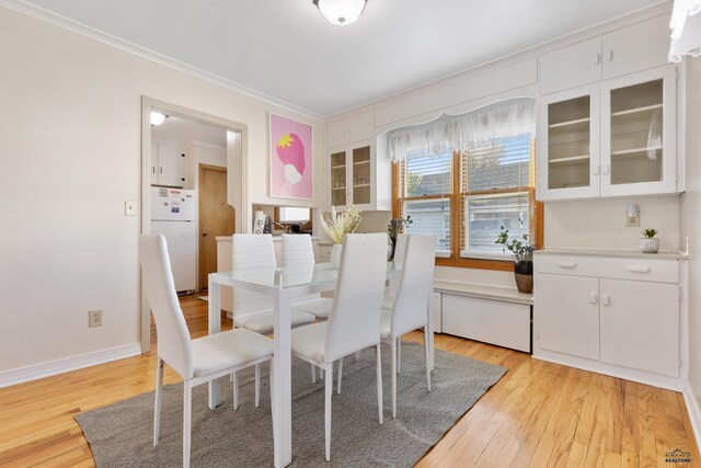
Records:
[[[329,315],[325,361],[380,342],[380,308],[387,276],[387,235],[346,235]]]

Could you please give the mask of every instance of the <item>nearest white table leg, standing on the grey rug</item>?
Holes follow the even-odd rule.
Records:
[[[276,468],[283,468],[292,463],[290,306],[291,300],[286,297],[284,290],[279,290],[274,296],[273,445]]]

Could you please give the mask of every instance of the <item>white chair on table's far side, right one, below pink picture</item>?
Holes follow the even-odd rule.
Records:
[[[313,269],[314,251],[309,235],[283,235],[283,267]],[[329,318],[333,299],[312,294],[299,298],[292,304],[292,311],[307,312],[318,320]]]

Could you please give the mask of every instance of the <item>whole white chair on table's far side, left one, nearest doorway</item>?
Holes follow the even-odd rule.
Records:
[[[235,233],[231,237],[231,270],[245,272],[251,278],[265,278],[275,274],[275,247],[271,235]],[[256,333],[272,333],[275,328],[275,310],[271,296],[233,288],[233,323]],[[309,324],[314,316],[308,312],[292,310],[290,315],[292,327]],[[231,375],[233,386],[233,408],[239,408],[239,381],[237,374]],[[261,367],[255,366],[255,406],[260,404]]]

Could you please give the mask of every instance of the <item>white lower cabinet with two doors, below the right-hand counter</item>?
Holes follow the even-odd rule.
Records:
[[[685,329],[679,260],[540,253],[535,263],[536,357],[674,386]]]

